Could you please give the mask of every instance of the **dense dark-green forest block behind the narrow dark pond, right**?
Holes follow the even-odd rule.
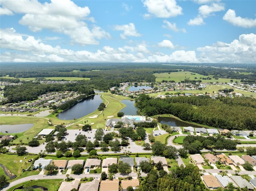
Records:
[[[135,101],[147,116],[172,114],[181,120],[228,130],[256,130],[256,99],[178,96],[165,99],[140,95]]]

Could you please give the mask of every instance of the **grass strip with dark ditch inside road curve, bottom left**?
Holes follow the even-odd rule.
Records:
[[[10,189],[8,189],[7,191],[13,191],[15,188],[21,185],[24,185],[24,188],[32,187],[32,186],[41,186],[41,187],[47,188],[49,191],[58,191],[62,181],[63,179],[44,179],[44,180],[37,180],[37,181],[32,180],[32,181],[27,181],[27,182],[15,185]],[[20,189],[17,189],[17,190],[20,190]]]

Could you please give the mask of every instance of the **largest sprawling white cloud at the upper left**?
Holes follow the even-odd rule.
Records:
[[[89,8],[77,6],[71,0],[51,0],[44,3],[37,0],[3,0],[1,5],[12,12],[24,14],[19,23],[28,26],[32,32],[52,30],[68,35],[72,42],[81,45],[98,44],[96,39],[110,37],[100,27],[89,28],[85,21],[95,22],[94,18],[88,17]]]

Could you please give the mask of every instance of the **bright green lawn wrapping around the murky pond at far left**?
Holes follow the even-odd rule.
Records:
[[[29,130],[22,133],[8,133],[10,135],[18,135],[18,138],[13,140],[13,144],[20,144],[20,140],[23,143],[28,144],[28,141],[31,141],[34,136],[36,136],[42,129],[44,128],[53,128],[52,126],[48,126],[48,120],[46,118],[40,117],[29,117],[29,116],[1,116],[0,117],[1,124],[29,124],[32,123],[34,126]],[[1,133],[3,134],[3,133]],[[6,133],[5,133],[6,134]],[[4,134],[4,135],[5,135]],[[29,138],[27,140],[27,138]],[[38,140],[40,143],[44,142],[42,140]]]

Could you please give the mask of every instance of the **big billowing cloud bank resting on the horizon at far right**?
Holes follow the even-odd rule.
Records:
[[[256,35],[242,34],[231,43],[217,42],[212,46],[200,47],[201,62],[212,63],[256,63]]]

